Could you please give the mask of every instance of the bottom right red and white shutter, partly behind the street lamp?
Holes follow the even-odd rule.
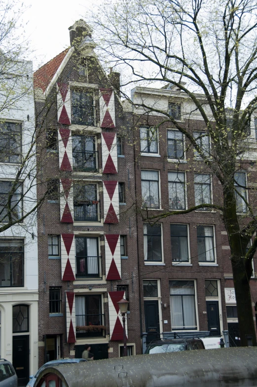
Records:
[[[124,298],[124,291],[109,292],[108,305],[109,305],[109,324],[110,324],[110,341],[123,340],[123,323],[120,316],[119,306],[117,304],[122,298]],[[126,319],[126,336],[128,337],[128,327]]]

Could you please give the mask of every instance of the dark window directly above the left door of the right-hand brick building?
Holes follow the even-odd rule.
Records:
[[[144,224],[144,257],[145,261],[161,261],[161,225]]]

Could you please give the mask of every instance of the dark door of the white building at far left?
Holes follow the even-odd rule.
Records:
[[[18,377],[18,386],[26,386],[29,381],[29,338],[29,335],[12,338],[12,363]]]

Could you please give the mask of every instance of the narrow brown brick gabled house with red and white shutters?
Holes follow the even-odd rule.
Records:
[[[35,73],[48,190],[38,214],[38,366],[80,357],[85,344],[95,359],[121,356],[123,297],[128,352],[141,353],[132,115],[90,27],[79,20],[69,30],[71,46]]]

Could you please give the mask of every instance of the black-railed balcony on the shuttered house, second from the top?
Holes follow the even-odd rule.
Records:
[[[73,151],[73,169],[74,171],[95,172],[98,171],[98,152],[79,152]]]

